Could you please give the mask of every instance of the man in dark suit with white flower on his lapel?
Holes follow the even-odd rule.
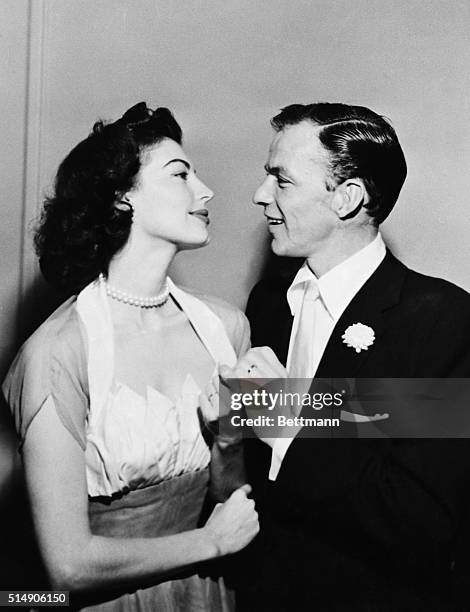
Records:
[[[297,378],[470,377],[470,296],[409,270],[378,230],[406,176],[388,121],[320,103],[288,106],[272,125],[254,202],[273,252],[304,263],[254,288],[253,346],[277,358],[252,349],[234,374],[281,376],[286,364]],[[242,609],[453,609],[467,440],[300,431],[248,441],[247,464],[261,536]]]

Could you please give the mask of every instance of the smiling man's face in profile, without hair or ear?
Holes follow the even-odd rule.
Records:
[[[269,149],[263,183],[253,202],[264,206],[276,255],[309,257],[331,238],[338,217],[328,191],[327,152],[319,128],[308,121],[278,132]]]

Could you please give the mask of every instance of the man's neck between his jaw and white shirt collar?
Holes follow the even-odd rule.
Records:
[[[309,268],[320,278],[335,266],[369,245],[377,237],[378,229],[369,226],[358,232],[341,232],[335,235],[324,248],[307,257]]]

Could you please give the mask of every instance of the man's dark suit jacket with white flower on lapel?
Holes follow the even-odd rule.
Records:
[[[283,363],[291,280],[261,281],[247,308],[253,346],[271,346]],[[360,353],[341,339],[357,322],[376,336]],[[317,377],[470,377],[470,295],[387,252],[335,326]],[[298,437],[274,483],[270,457],[247,441],[261,534],[241,609],[454,609],[455,546],[470,518],[468,440]]]

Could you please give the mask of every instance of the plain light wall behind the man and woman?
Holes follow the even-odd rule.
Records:
[[[325,100],[392,120],[409,175],[385,236],[408,265],[470,290],[467,0],[2,0],[0,11],[1,367],[19,305],[24,327],[43,295],[30,226],[58,163],[98,117],[140,100],[172,109],[216,192],[211,244],[175,263],[183,284],[244,307],[266,258],[250,202],[269,118]]]

